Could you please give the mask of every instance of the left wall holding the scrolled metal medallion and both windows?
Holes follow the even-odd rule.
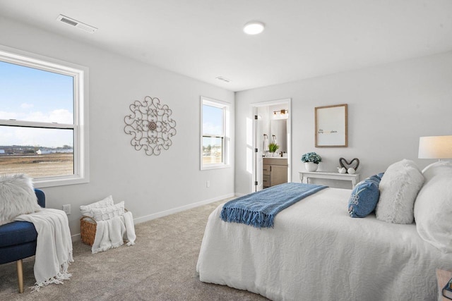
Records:
[[[136,221],[144,221],[234,194],[234,135],[232,167],[199,168],[200,96],[232,104],[234,133],[233,92],[4,18],[0,43],[90,70],[90,183],[43,189],[47,207],[72,205],[73,235],[80,233],[78,207],[108,195],[115,202],[124,200]],[[129,104],[145,96],[167,104],[177,122],[173,145],[160,156],[137,152],[130,145],[131,136],[124,133]]]

